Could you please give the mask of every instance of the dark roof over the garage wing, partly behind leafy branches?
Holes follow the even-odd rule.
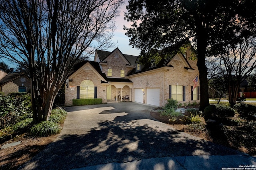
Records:
[[[166,49],[164,49],[163,51],[159,51],[160,53],[168,53],[169,55],[167,57],[162,57],[162,60],[154,67],[150,66],[150,63],[145,64],[145,66],[143,68],[141,68],[140,71],[137,71],[136,68],[132,69],[127,76],[133,75],[133,74],[138,74],[141,72],[146,72],[146,71],[150,71],[150,70],[154,70],[157,68],[161,68],[161,67],[173,67],[172,65],[170,65],[170,61],[179,53],[180,51],[180,47],[186,42],[188,41],[187,39],[184,39],[183,41],[180,41]],[[186,57],[184,57],[184,55],[180,55],[182,57],[182,59],[185,61],[186,65],[188,67],[184,67],[187,70],[194,70],[190,64],[188,63],[188,60],[186,59]]]

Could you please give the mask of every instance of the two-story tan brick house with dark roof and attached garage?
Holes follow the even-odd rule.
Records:
[[[170,50],[176,51],[181,45],[173,45]],[[102,98],[103,103],[125,100],[155,106],[164,106],[169,98],[198,102],[199,87],[192,89],[199,72],[196,60],[189,60],[190,55],[191,51],[174,53],[158,64],[141,65],[138,57],[122,54],[118,48],[112,52],[96,50],[94,61],[74,66],[66,82],[65,106],[71,106],[72,99],[77,98]]]

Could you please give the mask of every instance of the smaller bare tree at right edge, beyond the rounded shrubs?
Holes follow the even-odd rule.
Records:
[[[219,66],[228,87],[230,106],[236,104],[240,83],[256,68],[256,37],[242,38],[236,45],[228,45],[219,55]]]

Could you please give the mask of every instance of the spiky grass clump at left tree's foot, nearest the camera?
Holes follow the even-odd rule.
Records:
[[[60,133],[62,128],[58,123],[52,121],[41,121],[30,128],[30,133],[34,136],[48,136]]]

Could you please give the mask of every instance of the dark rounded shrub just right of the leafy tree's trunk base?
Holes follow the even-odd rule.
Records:
[[[206,119],[233,117],[234,114],[235,114],[234,109],[224,105],[214,104],[214,105],[207,106],[204,109],[204,116]]]

